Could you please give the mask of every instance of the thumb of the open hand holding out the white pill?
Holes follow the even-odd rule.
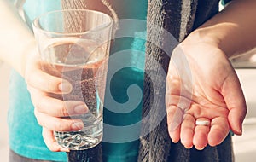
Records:
[[[221,93],[229,109],[230,128],[236,135],[241,135],[242,122],[247,114],[247,106],[235,71],[225,79]]]

